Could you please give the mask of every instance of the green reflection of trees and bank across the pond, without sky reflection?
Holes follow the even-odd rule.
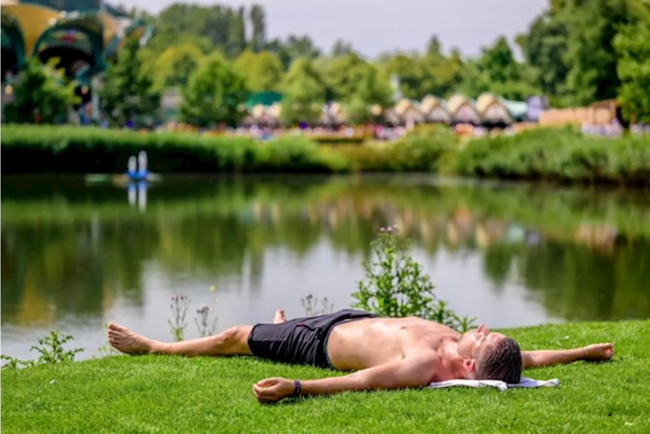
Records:
[[[326,241],[359,261],[395,223],[429,254],[480,251],[493,290],[516,279],[554,316],[650,314],[643,267],[650,206],[634,197],[395,183],[380,178],[223,179],[149,192],[145,213],[114,187],[78,182],[0,193],[0,321],[140,305],[148,264],[252,288],[269,249],[304,256]]]

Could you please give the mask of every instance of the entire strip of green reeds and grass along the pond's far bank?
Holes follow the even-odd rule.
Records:
[[[317,144],[286,136],[268,142],[195,133],[2,126],[0,174],[123,172],[146,150],[155,172],[441,172],[478,178],[645,185],[643,137],[609,139],[571,128],[461,140],[422,126],[391,144]]]

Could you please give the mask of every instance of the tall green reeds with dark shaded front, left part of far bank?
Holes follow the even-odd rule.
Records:
[[[302,137],[256,142],[194,133],[72,126],[1,126],[0,173],[120,173],[145,150],[155,172],[331,172],[341,156]]]

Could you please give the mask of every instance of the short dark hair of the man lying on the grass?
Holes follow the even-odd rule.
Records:
[[[521,349],[512,338],[487,348],[476,360],[476,378],[501,380],[513,385],[521,381]]]

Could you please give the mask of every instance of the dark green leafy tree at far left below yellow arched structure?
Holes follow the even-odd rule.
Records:
[[[57,59],[42,64],[32,58],[14,81],[14,100],[6,107],[6,120],[17,124],[65,122],[68,108],[78,102],[75,83],[66,81]]]

